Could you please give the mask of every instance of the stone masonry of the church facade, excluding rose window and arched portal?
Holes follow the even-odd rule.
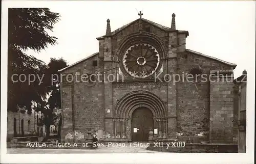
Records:
[[[135,21],[114,36],[105,36],[99,39],[99,56],[94,56],[62,73],[105,72],[106,75],[113,73],[113,71],[117,73],[117,70],[113,69],[117,64],[112,61],[118,59],[117,56],[114,56],[115,51],[125,36],[139,31],[139,23],[140,21]],[[164,73],[170,75],[178,73],[182,76],[183,73],[188,73],[192,68],[200,68],[203,73],[209,75],[210,70],[232,69],[219,61],[185,51],[185,45],[176,48],[177,45],[185,43],[185,34],[178,34],[177,31],[168,33],[142,21],[142,28],[145,30],[148,27],[150,27],[151,33],[157,35],[163,41],[163,46],[167,50],[167,54],[163,54],[164,57],[168,58],[163,61]],[[92,66],[93,60],[98,61],[97,67]],[[75,132],[84,133],[87,128],[93,128],[94,131],[101,134],[102,138],[104,138],[104,135],[113,135],[113,111],[118,100],[125,94],[136,90],[147,90],[155,93],[166,104],[167,117],[172,117],[168,118],[167,137],[176,138],[176,131],[194,136],[200,132],[209,133],[209,128],[211,128],[209,117],[211,117],[211,114],[216,115],[218,113],[214,112],[218,111],[217,108],[210,106],[218,103],[218,100],[210,99],[210,95],[214,93],[211,91],[215,87],[218,88],[219,84],[210,84],[209,81],[198,84],[180,81],[175,84],[173,80],[170,83],[152,83],[152,81],[146,80],[133,81],[132,83],[127,83],[127,81],[124,83],[109,83],[105,81],[98,82],[93,87],[88,87],[83,83],[62,84],[61,90],[65,93],[61,93],[63,108],[61,138],[64,140],[68,133],[72,135],[75,135]],[[231,92],[231,89],[228,88],[227,91]],[[110,111],[110,113],[107,111]],[[228,115],[228,118],[229,116],[231,115]],[[229,120],[225,123],[229,125]],[[211,125],[223,129],[220,124],[217,125],[217,122]],[[230,128],[231,126],[227,129],[230,130]],[[210,131],[214,130],[211,129]],[[214,135],[210,136],[213,137]],[[229,134],[225,136],[229,137]]]

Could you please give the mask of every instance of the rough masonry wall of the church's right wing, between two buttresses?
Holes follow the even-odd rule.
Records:
[[[186,75],[192,68],[199,68],[207,76],[210,70],[231,69],[230,66],[190,52],[178,53],[178,74]],[[186,76],[185,76],[186,77]],[[191,83],[186,79],[178,85],[178,133],[197,135],[201,132],[208,136],[210,116],[210,83]],[[217,86],[218,87],[218,86]],[[229,90],[230,91],[230,90]],[[216,101],[216,103],[219,103]],[[218,125],[220,128],[220,124]]]

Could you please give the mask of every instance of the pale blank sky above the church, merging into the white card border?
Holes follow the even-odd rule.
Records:
[[[36,2],[36,1],[35,1]],[[50,58],[63,58],[73,64],[98,52],[99,36],[105,34],[106,19],[111,30],[137,18],[170,27],[176,14],[176,29],[189,32],[186,48],[237,64],[234,76],[254,69],[255,63],[255,1],[53,1],[35,3],[61,15],[54,33],[58,44],[32,54],[46,63]],[[31,4],[29,4],[31,5]]]

